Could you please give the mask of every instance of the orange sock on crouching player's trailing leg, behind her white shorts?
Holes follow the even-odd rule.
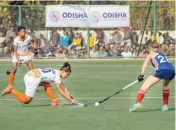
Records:
[[[12,94],[20,103],[24,103],[24,104],[27,103],[27,98],[26,98],[26,96],[25,96],[23,93],[21,93],[21,92],[15,90],[15,89],[12,89],[12,90],[11,90],[11,94]]]

